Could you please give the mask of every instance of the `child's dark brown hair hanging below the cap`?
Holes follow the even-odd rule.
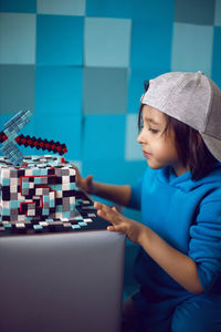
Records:
[[[141,112],[139,108],[138,129],[141,128]],[[217,159],[209,152],[201,135],[189,125],[165,114],[167,126],[165,133],[171,128],[175,133],[176,148],[178,157],[185,167],[189,167],[192,179],[197,180],[206,176]]]

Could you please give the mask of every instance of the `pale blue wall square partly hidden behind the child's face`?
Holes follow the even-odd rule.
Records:
[[[126,142],[125,142],[126,160],[144,159],[141,146],[137,142],[137,136],[138,136],[138,114],[127,114]]]

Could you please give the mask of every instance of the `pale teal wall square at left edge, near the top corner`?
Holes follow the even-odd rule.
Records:
[[[35,63],[35,14],[0,13],[0,63]]]

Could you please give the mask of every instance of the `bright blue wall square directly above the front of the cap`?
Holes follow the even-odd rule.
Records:
[[[135,20],[131,33],[130,66],[151,71],[169,71],[171,61],[172,23]]]

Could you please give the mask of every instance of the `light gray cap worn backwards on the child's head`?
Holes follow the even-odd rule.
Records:
[[[150,80],[141,103],[197,129],[221,162],[221,91],[202,72],[171,72]]]

